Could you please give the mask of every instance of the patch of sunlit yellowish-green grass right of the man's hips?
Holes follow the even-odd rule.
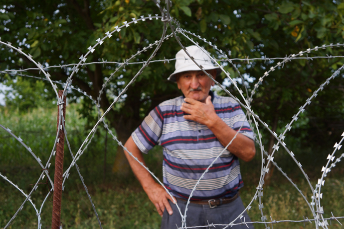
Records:
[[[344,216],[344,179],[326,179],[325,186],[322,188],[323,199],[321,205],[324,207],[324,218],[331,217],[331,212],[335,216]],[[298,187],[306,194],[308,200],[311,200],[311,192],[306,182],[297,183]],[[314,183],[313,183],[314,185]],[[252,192],[255,190],[243,189],[241,198],[245,204],[252,197]],[[258,198],[257,198],[258,200]],[[306,204],[304,198],[299,192],[288,183],[275,183],[264,187],[264,194],[262,197],[264,204],[263,213],[271,221],[273,220],[303,220],[303,216],[312,219],[312,212]],[[252,220],[261,221],[261,214],[258,211],[258,201],[254,202],[252,209],[249,211]],[[343,224],[344,220],[340,220]],[[329,222],[330,223],[330,222]],[[332,222],[334,228],[340,225]],[[271,228],[271,224],[269,225]],[[279,223],[273,225],[274,228],[304,228],[303,223]],[[264,228],[263,225],[255,225],[255,228]],[[315,228],[314,222],[312,224],[306,223],[305,228]]]

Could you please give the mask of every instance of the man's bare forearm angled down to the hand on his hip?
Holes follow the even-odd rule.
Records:
[[[132,137],[130,137],[128,139],[128,141],[126,142],[124,147],[130,153],[132,153],[133,156],[137,157],[139,161],[141,161],[145,164],[143,154],[139,150],[139,148],[136,146],[136,144],[134,143],[134,140],[132,139]],[[137,179],[141,183],[142,187],[144,188],[145,192],[147,193],[147,190],[149,189],[149,187],[156,184],[155,180],[153,179],[151,174],[147,171],[147,169],[144,168],[138,161],[136,161],[127,151],[124,151],[124,153],[125,153],[128,161],[129,161],[129,164],[130,164],[135,176],[137,177]]]

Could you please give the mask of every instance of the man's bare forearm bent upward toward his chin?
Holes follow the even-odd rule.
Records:
[[[211,119],[211,122],[209,122],[207,127],[224,147],[226,147],[237,134],[235,130],[227,126],[227,124],[216,114]],[[253,140],[240,134],[240,132],[228,146],[227,150],[244,161],[252,160],[256,153]]]

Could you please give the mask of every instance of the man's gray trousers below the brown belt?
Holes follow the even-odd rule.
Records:
[[[173,214],[172,216],[169,213],[164,211],[163,220],[161,223],[161,229],[177,229],[181,227],[181,216],[178,212],[177,207],[169,201]],[[177,200],[177,204],[181,210],[181,214],[184,215],[186,201]],[[190,203],[187,207],[186,212],[186,227],[196,227],[196,226],[207,226],[211,224],[229,224],[232,222],[245,207],[241,201],[241,198],[238,197],[231,203],[222,204],[215,208],[210,208],[209,205],[199,205]],[[236,220],[234,223],[251,222],[250,217],[245,211],[243,218]],[[209,224],[208,224],[209,223]],[[249,229],[254,229],[252,224],[247,224]],[[197,229],[209,229],[214,228],[210,227],[198,227]],[[216,226],[216,229],[223,229],[225,226]],[[237,225],[233,227],[227,227],[228,229],[247,229],[246,225]],[[193,228],[196,229],[196,228]]]

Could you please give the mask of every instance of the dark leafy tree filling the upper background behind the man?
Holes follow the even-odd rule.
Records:
[[[154,2],[146,0],[59,0],[44,4],[39,0],[8,0],[7,5],[1,7],[1,40],[16,43],[29,51],[33,59],[49,66],[78,63],[79,57],[87,51],[86,48],[94,45],[98,38],[103,38],[106,32],[113,31],[116,25],[122,25],[123,21],[131,21],[134,17],[139,18],[140,15],[160,14]],[[284,57],[324,43],[342,42],[343,13],[344,3],[327,0],[317,1],[316,5],[307,0],[173,0],[171,10],[171,15],[181,22],[182,28],[216,44],[225,53],[230,53],[230,58]],[[162,28],[163,23],[155,19],[123,28],[116,36],[97,47],[87,62],[123,62],[138,49],[142,50],[149,43],[159,40]],[[191,45],[182,35],[178,36],[183,44]],[[211,51],[209,45],[205,44],[205,48]],[[164,42],[155,59],[173,58],[179,49],[174,39],[169,39]],[[0,70],[33,67],[26,58],[4,50],[5,48],[1,47]],[[211,52],[218,55],[214,51]],[[337,55],[339,52],[339,49],[328,48],[319,50],[317,55]],[[149,50],[135,61],[147,60],[150,53]],[[234,62],[241,73],[245,72],[255,78],[263,76],[266,69],[275,64],[275,61],[265,64],[258,61],[248,64]],[[340,59],[288,63],[283,70],[275,71],[265,78],[254,97],[253,110],[276,131],[278,126],[291,119],[302,105],[300,103],[332,74],[331,71],[341,65],[343,62]],[[74,77],[73,84],[97,98],[105,79],[115,68],[113,64],[104,67],[99,64],[87,65]],[[103,110],[109,107],[114,96],[123,90],[140,68],[140,65],[130,65],[111,80],[107,93],[101,95],[100,106]],[[225,69],[233,77],[238,76],[231,65],[225,66]],[[30,75],[39,75],[38,71],[27,72]],[[52,78],[61,82],[67,79],[70,72],[71,68],[67,67],[49,70]],[[125,142],[143,117],[156,105],[180,94],[175,85],[167,81],[172,72],[173,63],[150,64],[126,92],[127,97],[123,97],[120,105],[109,112],[106,118],[116,129],[120,141]],[[221,77],[219,81],[224,79],[224,74]],[[256,81],[245,82],[249,92]],[[243,84],[241,86],[243,87]],[[343,83],[336,81],[335,85],[331,86],[332,90],[333,93],[342,92]],[[325,105],[329,101],[336,103],[343,99],[343,93],[332,97],[333,93],[330,92],[329,96],[318,101],[324,104],[324,109],[332,112],[331,114],[343,113],[343,105],[341,111]],[[71,98],[74,95],[74,92],[69,94]],[[88,107],[85,108],[86,113]],[[327,111],[318,107],[309,112],[318,119],[326,119],[328,115]],[[326,126],[332,125],[335,129],[335,123],[343,124],[340,118],[326,120],[329,122]],[[313,128],[313,122],[317,121],[311,119],[306,125],[306,131]],[[339,131],[337,128],[333,132]],[[292,134],[297,136],[300,133]],[[274,138],[271,137],[267,144],[272,146],[273,143]],[[119,148],[115,168],[126,173],[128,166],[122,156],[122,149]]]

